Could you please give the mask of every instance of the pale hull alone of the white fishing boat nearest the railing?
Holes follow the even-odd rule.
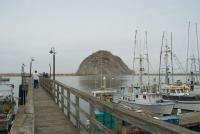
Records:
[[[174,108],[173,103],[139,104],[122,100],[121,103],[133,109],[141,108],[144,111],[157,114],[171,114]]]

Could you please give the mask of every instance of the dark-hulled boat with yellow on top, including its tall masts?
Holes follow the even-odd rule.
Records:
[[[188,30],[189,31],[189,30]],[[189,34],[188,34],[189,35]],[[164,39],[164,33],[163,33]],[[163,39],[162,39],[162,46],[163,46]],[[189,41],[188,41],[189,42]],[[172,69],[172,84],[169,83],[169,65],[166,61],[165,63],[165,84],[160,84],[160,68],[161,68],[161,55],[162,52],[161,46],[161,54],[160,54],[160,67],[159,67],[159,89],[160,93],[162,93],[163,101],[164,102],[173,102],[175,103],[174,108],[183,109],[183,110],[192,110],[192,111],[200,111],[200,97],[199,96],[192,96],[191,90],[194,88],[193,78],[190,83],[183,84],[180,81],[173,82],[173,64],[171,65]],[[167,45],[166,45],[167,46]],[[169,48],[169,47],[165,47]],[[171,53],[171,63],[173,63],[172,59],[172,33],[171,33],[171,49],[168,51],[164,50],[165,60],[168,59],[168,53]],[[187,60],[188,64],[188,60]],[[187,69],[186,69],[187,70]]]

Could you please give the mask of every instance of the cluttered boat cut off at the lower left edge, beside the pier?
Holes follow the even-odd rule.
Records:
[[[1,85],[1,88],[5,86],[11,89],[0,89],[0,131],[9,132],[15,116],[16,103],[13,98],[14,85]]]

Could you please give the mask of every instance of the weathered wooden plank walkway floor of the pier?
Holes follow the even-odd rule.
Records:
[[[33,90],[36,134],[78,133],[44,89],[38,88]]]

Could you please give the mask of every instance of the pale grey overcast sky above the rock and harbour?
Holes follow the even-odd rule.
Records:
[[[199,0],[1,0],[0,73],[48,71],[49,50],[56,49],[56,71],[75,72],[80,62],[99,49],[120,56],[131,68],[134,31],[148,31],[150,60],[159,63],[162,32],[173,32],[174,52],[186,58],[187,23],[191,48],[200,23]],[[200,26],[199,26],[200,27]],[[139,37],[143,42],[143,35]]]

